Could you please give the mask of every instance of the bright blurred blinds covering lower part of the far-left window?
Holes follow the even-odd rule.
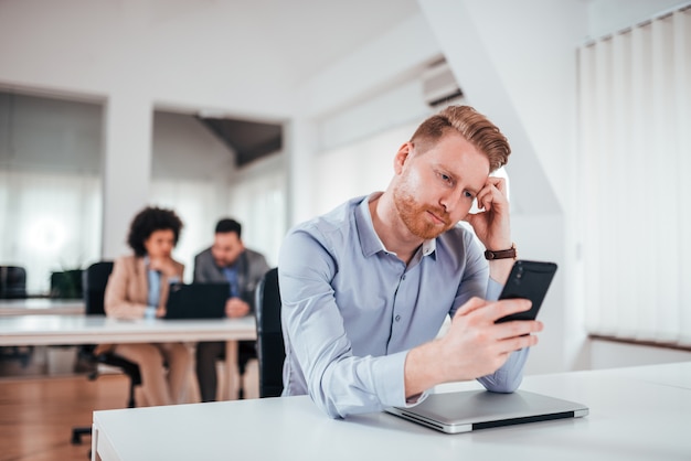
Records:
[[[100,179],[0,169],[0,264],[26,270],[26,292],[47,294],[51,272],[100,255]]]

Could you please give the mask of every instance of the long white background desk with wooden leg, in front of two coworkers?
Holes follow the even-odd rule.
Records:
[[[256,339],[253,317],[214,320],[116,320],[100,315],[0,317],[0,346],[226,341],[224,398],[233,398],[237,341]]]

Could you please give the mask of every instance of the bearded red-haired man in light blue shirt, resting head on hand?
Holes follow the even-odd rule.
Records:
[[[504,181],[489,174],[509,153],[487,118],[448,107],[398,149],[386,191],[288,233],[278,262],[284,395],[309,394],[337,418],[412,406],[447,382],[518,388],[542,323],[495,323],[530,309],[496,301],[515,248]],[[469,214],[474,201],[480,212]]]

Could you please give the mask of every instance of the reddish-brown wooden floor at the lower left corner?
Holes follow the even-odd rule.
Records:
[[[0,461],[88,460],[92,439],[72,444],[72,428],[92,411],[124,408],[123,375],[3,378],[0,380]]]

